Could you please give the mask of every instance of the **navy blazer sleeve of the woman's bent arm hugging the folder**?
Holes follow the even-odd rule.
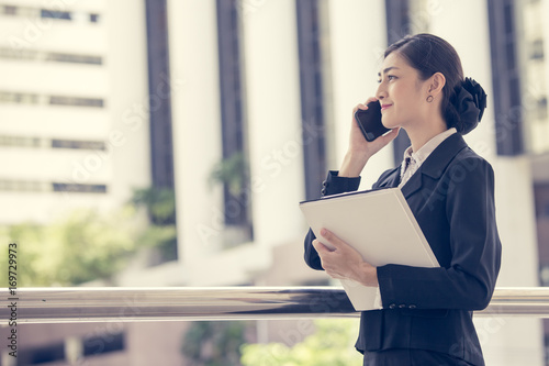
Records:
[[[501,265],[495,222],[494,173],[488,162],[462,179],[449,179],[446,215],[450,266],[378,267],[383,308],[482,310],[490,303]],[[475,162],[479,163],[479,162]]]

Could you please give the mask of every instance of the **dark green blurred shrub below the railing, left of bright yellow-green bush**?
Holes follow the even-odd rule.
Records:
[[[239,366],[245,322],[194,322],[183,335],[181,353],[197,366]]]

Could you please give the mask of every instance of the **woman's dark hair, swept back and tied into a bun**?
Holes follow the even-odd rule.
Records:
[[[422,80],[426,80],[435,73],[441,73],[446,78],[442,88],[442,102],[440,104],[442,118],[449,127],[466,134],[479,123],[485,107],[485,93],[475,81],[482,95],[475,96],[466,87],[471,82],[463,78],[463,68],[456,49],[445,40],[427,33],[406,35],[385,49],[384,57],[397,52],[406,62],[419,73]],[[466,90],[463,92],[463,88]],[[479,91],[480,92],[480,91]],[[482,100],[483,99],[483,100]],[[473,103],[474,106],[469,106]],[[484,106],[482,106],[484,104]]]

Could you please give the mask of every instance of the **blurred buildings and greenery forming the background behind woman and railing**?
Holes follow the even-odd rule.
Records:
[[[2,271],[16,242],[19,287],[337,285],[302,260],[298,203],[338,168],[384,48],[429,32],[489,95],[466,140],[496,174],[497,285],[547,286],[544,14],[549,0],[0,0]],[[361,188],[406,147],[401,133]],[[475,322],[488,365],[549,365],[548,322]],[[361,365],[356,320],[18,326],[19,365]]]

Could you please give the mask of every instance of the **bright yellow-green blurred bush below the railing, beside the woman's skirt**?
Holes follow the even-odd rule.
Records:
[[[316,333],[292,347],[281,343],[246,344],[240,362],[244,366],[349,366],[362,365],[355,350],[356,320],[318,319]]]

